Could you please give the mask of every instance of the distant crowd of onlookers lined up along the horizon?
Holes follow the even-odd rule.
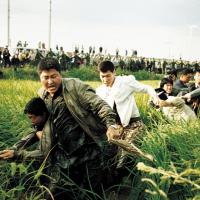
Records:
[[[95,50],[95,47],[90,46],[88,50],[83,47],[81,49],[75,47],[73,51],[67,52],[63,47],[58,47],[58,45],[55,50],[47,50],[44,44],[40,44],[37,49],[32,49],[28,48],[27,42],[22,45],[21,41],[18,42],[17,47],[11,53],[7,46],[5,48],[0,47],[1,67],[13,66],[14,69],[17,69],[17,67],[22,67],[25,64],[37,65],[45,57],[58,59],[62,66],[61,70],[69,70],[81,66],[98,66],[104,60],[110,60],[122,70],[145,70],[159,74],[165,74],[169,69],[182,70],[183,68],[197,69],[200,67],[198,61],[185,61],[182,58],[178,60],[146,58],[138,56],[136,50],[132,51],[131,55],[128,55],[127,50],[124,55],[121,55],[119,49],[116,49],[115,54],[111,55],[103,47]]]

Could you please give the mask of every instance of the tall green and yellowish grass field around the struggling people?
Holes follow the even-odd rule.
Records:
[[[153,87],[158,81],[143,81]],[[96,88],[100,82],[87,82]],[[0,80],[0,150],[11,146],[30,130],[23,114],[26,102],[36,96],[40,83],[29,80]],[[147,107],[148,96],[137,94],[136,101],[146,124],[141,149],[154,157],[154,162],[135,159],[130,168],[132,181],[126,194],[130,200],[182,200],[200,199],[200,123],[171,123],[160,113]],[[26,187],[26,178],[37,180],[38,172],[30,173],[27,163],[1,161],[0,199],[41,199],[40,192],[31,193],[31,188],[43,191],[38,182]],[[11,187],[10,180],[20,174],[17,185]],[[128,177],[127,177],[128,180]],[[30,189],[30,191],[29,191]],[[119,190],[120,191],[120,190]]]

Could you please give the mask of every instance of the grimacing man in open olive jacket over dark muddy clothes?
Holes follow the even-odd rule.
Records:
[[[49,175],[53,181],[49,189],[56,196],[56,186],[61,187],[63,178],[68,177],[70,186],[62,192],[78,185],[82,191],[100,194],[115,166],[117,147],[108,143],[119,137],[115,113],[89,85],[78,79],[62,79],[56,59],[42,59],[38,72],[43,86],[39,95],[50,113]],[[83,199],[80,191],[69,189],[67,198]]]

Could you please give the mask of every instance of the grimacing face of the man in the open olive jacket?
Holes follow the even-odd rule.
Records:
[[[44,89],[47,90],[51,96],[53,96],[61,85],[62,77],[61,74],[55,69],[43,70],[40,74],[40,81]]]

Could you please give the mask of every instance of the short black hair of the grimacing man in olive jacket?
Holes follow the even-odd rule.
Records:
[[[43,70],[55,69],[61,72],[61,66],[57,59],[55,58],[43,58],[38,64],[38,73],[41,74]]]

